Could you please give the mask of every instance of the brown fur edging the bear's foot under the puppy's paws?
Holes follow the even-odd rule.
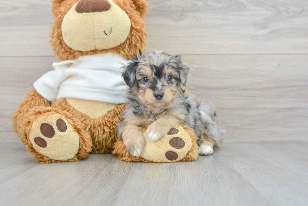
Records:
[[[141,128],[142,133],[146,131],[147,127],[149,125],[146,125],[144,127]],[[189,126],[185,126],[182,125],[181,126],[184,128],[184,130],[189,134],[189,136],[191,137],[191,140],[193,142],[192,147],[190,149],[190,151],[186,154],[186,156],[179,160],[179,162],[183,162],[183,161],[192,161],[197,159],[198,157],[198,153],[199,153],[199,147],[197,145],[197,136],[195,135],[195,132],[193,129],[191,129]],[[142,157],[135,157],[133,155],[131,155],[125,145],[123,140],[117,139],[117,142],[114,144],[114,150],[113,150],[113,155],[118,155],[119,159],[122,161],[126,161],[126,162],[149,162],[149,163],[154,163],[153,161],[149,161],[146,160]]]

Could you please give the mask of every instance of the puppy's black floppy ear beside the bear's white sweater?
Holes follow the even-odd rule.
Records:
[[[124,67],[122,72],[122,78],[124,79],[127,86],[132,89],[136,82],[136,70],[141,57],[141,50],[139,49],[139,55],[134,55],[134,58]]]

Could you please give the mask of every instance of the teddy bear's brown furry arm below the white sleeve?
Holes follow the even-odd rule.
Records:
[[[45,106],[50,107],[51,102],[42,97],[38,92],[36,92],[35,88],[32,87],[30,91],[27,93],[27,96],[24,98],[22,103],[19,104],[18,108],[13,114],[13,129],[14,132],[20,137],[22,126],[23,126],[23,118],[28,110],[37,107],[37,106]]]

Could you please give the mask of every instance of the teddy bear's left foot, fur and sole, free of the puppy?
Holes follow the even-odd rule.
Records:
[[[66,112],[37,107],[29,111],[25,123],[26,148],[43,163],[79,160],[91,151],[90,137]]]

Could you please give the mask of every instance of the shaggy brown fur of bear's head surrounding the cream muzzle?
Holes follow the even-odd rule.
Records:
[[[78,1],[79,0],[52,0],[52,14],[54,20],[50,33],[50,45],[59,60],[74,60],[83,55],[108,52],[122,54],[125,58],[129,59],[132,54],[138,52],[138,49],[143,49],[145,47],[147,36],[143,14],[147,11],[148,5],[143,0],[114,0],[114,2],[126,12],[131,21],[130,33],[123,44],[109,49],[95,49],[87,52],[76,51],[68,47],[62,36],[62,20],[69,9]]]

